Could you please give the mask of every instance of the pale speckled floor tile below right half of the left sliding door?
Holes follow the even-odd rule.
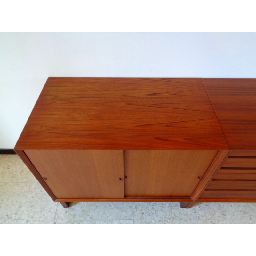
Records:
[[[95,205],[95,220],[128,220],[132,218],[132,202],[97,202]]]

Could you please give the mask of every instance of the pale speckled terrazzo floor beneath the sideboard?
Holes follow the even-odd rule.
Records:
[[[256,203],[52,201],[17,155],[0,155],[0,224],[256,224]]]

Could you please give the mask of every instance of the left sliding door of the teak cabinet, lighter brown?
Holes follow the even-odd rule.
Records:
[[[122,150],[25,150],[57,198],[124,198]]]

